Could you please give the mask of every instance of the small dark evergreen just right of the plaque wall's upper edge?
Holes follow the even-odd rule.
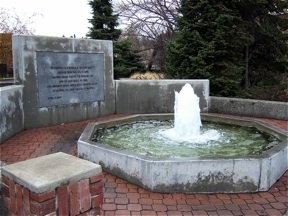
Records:
[[[143,71],[141,58],[128,39],[114,42],[114,77],[127,78],[135,71]]]

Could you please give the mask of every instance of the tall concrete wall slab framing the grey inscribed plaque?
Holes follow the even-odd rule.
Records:
[[[39,51],[104,53],[104,101],[39,108],[36,62]],[[25,128],[80,121],[115,112],[112,41],[14,35],[13,63],[15,82],[24,86]]]

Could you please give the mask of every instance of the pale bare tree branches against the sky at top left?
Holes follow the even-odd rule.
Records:
[[[29,26],[33,23],[33,18],[36,14],[29,17],[21,17],[8,9],[0,8],[0,32],[28,34],[33,33],[33,29]]]

